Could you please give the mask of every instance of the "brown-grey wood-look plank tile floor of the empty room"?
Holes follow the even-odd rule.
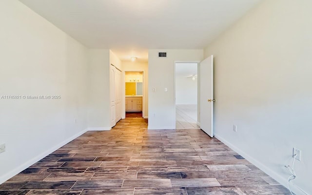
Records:
[[[87,132],[0,185],[0,195],[289,195],[199,129],[147,130],[128,114]]]

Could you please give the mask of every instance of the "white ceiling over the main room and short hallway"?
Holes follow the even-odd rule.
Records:
[[[90,48],[121,60],[203,49],[260,0],[20,0]]]

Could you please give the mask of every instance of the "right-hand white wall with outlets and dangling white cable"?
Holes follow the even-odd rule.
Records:
[[[309,194],[311,7],[311,0],[263,1],[204,51],[215,56],[216,137],[284,185],[292,147],[301,149],[293,183]]]

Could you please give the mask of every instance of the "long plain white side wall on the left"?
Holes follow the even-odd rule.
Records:
[[[88,52],[18,0],[0,1],[0,183],[85,132]],[[75,119],[77,122],[75,122]]]

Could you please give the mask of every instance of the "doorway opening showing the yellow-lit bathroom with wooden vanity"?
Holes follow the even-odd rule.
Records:
[[[143,117],[144,71],[125,71],[125,117]]]

